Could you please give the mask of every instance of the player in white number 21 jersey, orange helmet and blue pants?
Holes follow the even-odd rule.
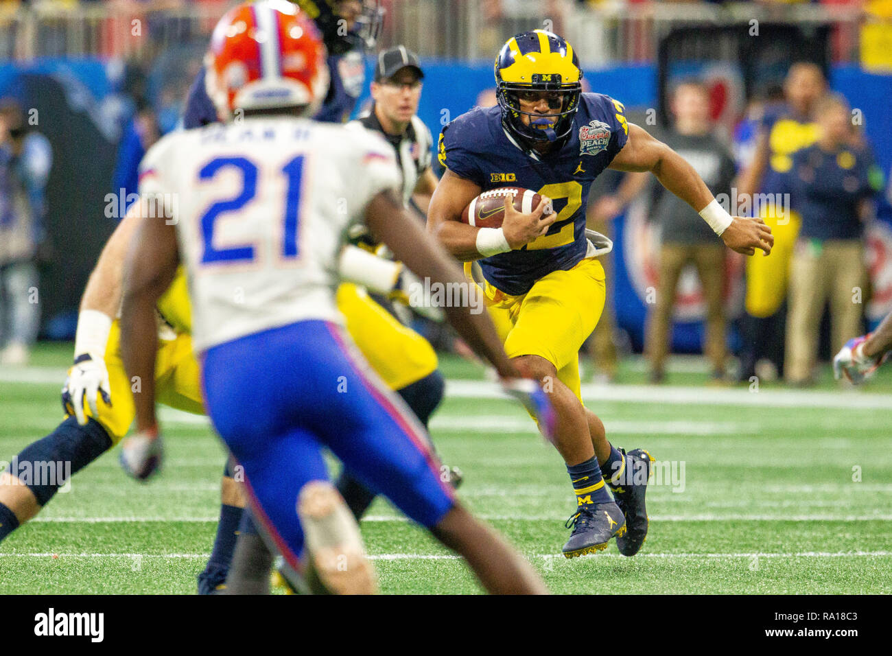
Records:
[[[461,271],[403,207],[382,137],[306,118],[326,95],[325,52],[293,4],[236,6],[209,51],[211,98],[227,122],[163,137],[140,164],[141,195],[179,202],[141,222],[125,268],[120,351],[142,381],[138,437],[161,439],[155,307],[182,262],[208,414],[244,466],[252,514],[292,585],[309,568],[331,592],[376,590],[359,527],[328,482],[327,447],[464,556],[488,591],[544,592],[532,567],[464,510],[420,422],[343,328],[337,263],[360,223],[418,275],[460,284]],[[546,395],[516,377],[489,318],[448,315],[506,390],[551,426]]]

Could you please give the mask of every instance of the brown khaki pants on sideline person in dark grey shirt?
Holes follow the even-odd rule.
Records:
[[[723,371],[726,355],[722,298],[725,265],[723,245],[665,244],[660,247],[657,303],[648,315],[645,351],[648,353],[651,368],[662,371],[669,351],[669,330],[672,328],[675,288],[678,286],[681,270],[688,262],[693,262],[697,267],[706,301],[706,344],[703,352],[712,363],[714,371]]]

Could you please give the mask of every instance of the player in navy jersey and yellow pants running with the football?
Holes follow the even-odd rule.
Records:
[[[508,357],[550,391],[554,444],[577,503],[564,555],[600,551],[616,536],[619,551],[632,556],[648,532],[652,459],[643,449],[624,453],[610,444],[580,394],[579,349],[605,301],[604,270],[585,235],[591,182],[607,167],[650,171],[738,253],[770,253],[771,230],[760,219],[731,217],[690,164],[625,119],[623,104],[583,94],[579,60],[562,37],[536,29],[509,39],[495,77],[498,106],[467,112],[442,130],[447,170],[428,228],[458,260],[480,262],[483,292],[496,324],[506,327]],[[541,202],[518,212],[506,198],[501,228],[462,222],[475,196],[505,182],[536,191]],[[545,216],[549,206],[557,213]]]

